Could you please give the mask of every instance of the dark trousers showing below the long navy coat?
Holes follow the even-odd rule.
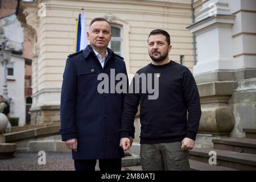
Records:
[[[74,160],[76,171],[95,171],[96,159]],[[121,171],[122,158],[98,159],[101,171]]]

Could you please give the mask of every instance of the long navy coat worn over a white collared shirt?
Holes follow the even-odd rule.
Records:
[[[110,82],[110,69],[127,77],[125,61],[109,48],[104,68],[89,45],[68,56],[61,89],[60,134],[63,141],[77,138],[73,159],[123,157],[119,129],[125,94],[97,92],[102,81],[97,76],[106,73]]]

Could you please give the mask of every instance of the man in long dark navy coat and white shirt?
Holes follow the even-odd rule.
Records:
[[[119,127],[125,93],[99,93],[98,84],[102,80],[97,79],[105,73],[110,80],[113,71],[114,76],[124,73],[127,78],[125,61],[107,48],[111,36],[109,22],[94,18],[87,32],[90,45],[69,55],[65,65],[60,134],[72,150],[76,170],[94,171],[97,159],[101,170],[121,170]],[[104,90],[110,90],[110,85]]]

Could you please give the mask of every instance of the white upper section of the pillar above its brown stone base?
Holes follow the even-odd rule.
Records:
[[[194,74],[236,69],[232,53],[232,26],[235,16],[230,15],[228,2],[212,0],[204,3],[196,23],[189,26],[197,38],[198,63]]]

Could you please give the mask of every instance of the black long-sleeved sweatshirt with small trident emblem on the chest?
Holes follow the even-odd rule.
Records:
[[[148,64],[137,73],[152,73],[152,80],[159,78],[159,96],[149,100],[148,96],[154,93],[142,92],[142,79],[139,81],[139,93],[134,93],[133,89],[133,93],[126,94],[121,138],[129,137],[133,131],[134,117],[141,104],[141,144],[180,142],[185,137],[195,140],[201,107],[196,82],[189,69],[170,61],[164,65]]]

